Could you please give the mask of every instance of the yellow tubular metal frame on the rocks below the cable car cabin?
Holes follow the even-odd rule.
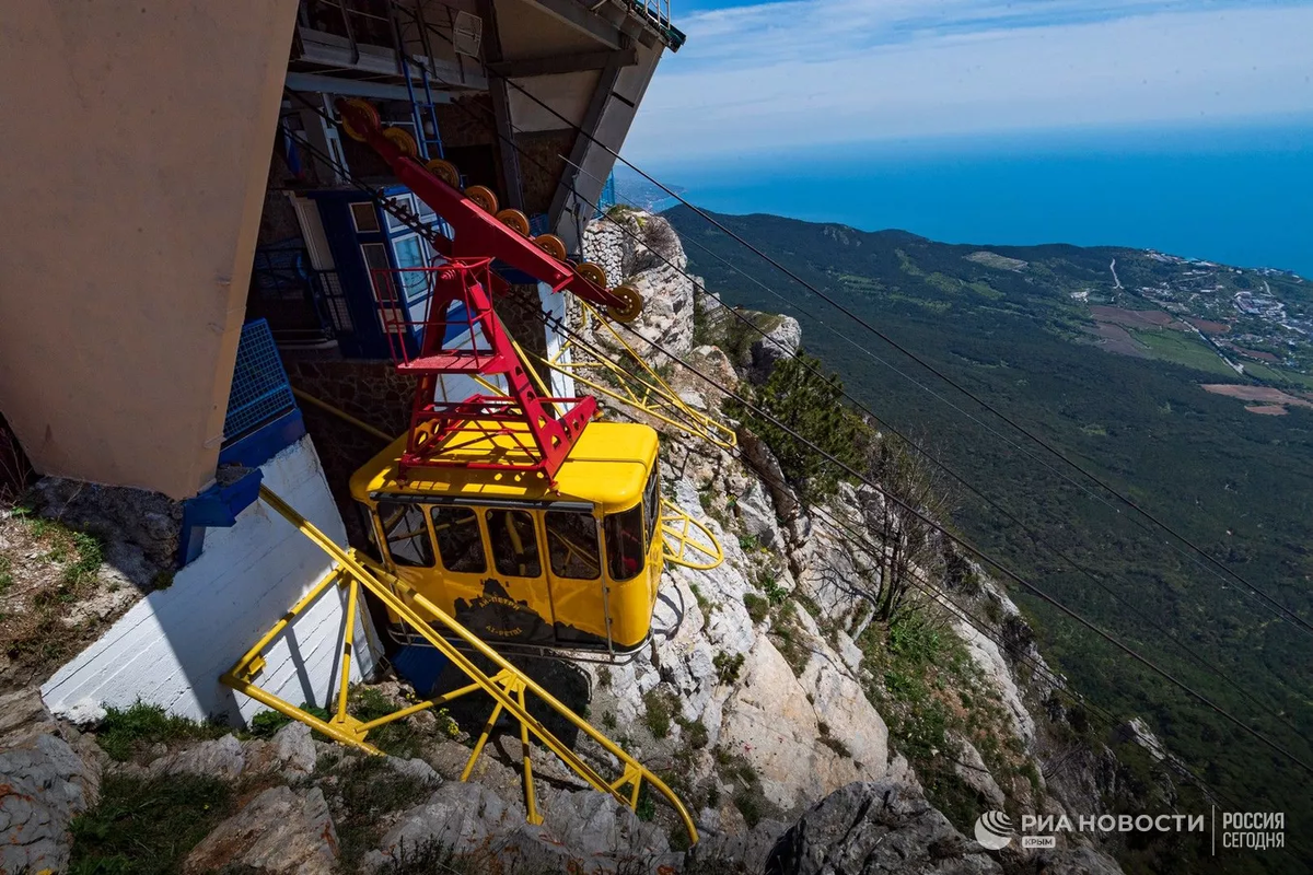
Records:
[[[282,619],[274,623],[274,626],[265,632],[265,635],[256,641],[256,644],[249,648],[227,673],[219,678],[223,683],[234,690],[238,690],[239,693],[249,695],[252,699],[256,699],[257,702],[261,702],[281,714],[288,715],[289,718],[293,718],[294,720],[309,724],[314,729],[318,729],[341,744],[347,744],[373,754],[378,754],[381,752],[365,740],[372,729],[394,720],[400,720],[402,718],[412,714],[418,714],[425,708],[432,708],[445,702],[450,702],[452,699],[469,693],[482,690],[492,697],[495,706],[491,716],[483,725],[483,731],[479,735],[478,743],[475,744],[469,761],[465,765],[465,771],[461,774],[462,781],[469,778],[479,754],[483,753],[483,748],[487,744],[488,736],[492,733],[496,719],[504,711],[520,723],[525,809],[528,812],[529,823],[542,823],[542,816],[538,813],[537,800],[533,791],[533,766],[529,756],[529,736],[532,735],[540,744],[559,757],[571,771],[588,782],[588,784],[595,790],[600,792],[609,792],[621,804],[629,805],[630,808],[635,808],[638,805],[639,791],[642,788],[642,783],[646,781],[675,808],[675,812],[683,821],[684,828],[688,830],[689,840],[692,842],[697,842],[697,828],[693,825],[693,819],[689,816],[688,809],[684,808],[684,804],[679,800],[679,796],[675,795],[666,782],[658,778],[641,762],[625,753],[625,750],[616,743],[593,728],[592,724],[580,718],[578,714],[571,711],[530,677],[525,676],[520,669],[508,662],[496,651],[484,644],[479,638],[458,623],[453,617],[444,613],[437,605],[427,600],[420,593],[415,592],[415,589],[411,588],[404,580],[389,575],[377,567],[369,568],[361,561],[361,558],[356,555],[355,550],[348,551],[339,547],[327,535],[319,531],[314,523],[302,517],[286,501],[278,497],[272,489],[261,485],[260,500],[297,527],[310,540],[318,544],[320,550],[328,554],[328,556],[334,559],[335,565],[332,572],[315,584],[315,586],[311,588],[311,590],[306,593],[301,601],[298,601],[291,610],[282,617]],[[256,686],[255,678],[265,666],[263,656],[264,649],[332,585],[347,588],[347,607],[349,613],[348,622],[345,623],[345,631],[343,632],[340,683],[337,689],[336,711],[328,720],[322,720],[312,714],[306,712],[303,708],[295,707],[290,702],[260,689]],[[351,678],[351,649],[355,635],[355,611],[361,588],[373,593],[374,597],[378,598],[389,610],[399,615],[402,621],[419,632],[471,682],[453,690],[452,693],[399,708],[393,714],[381,716],[368,723],[357,720],[347,714],[347,687]],[[425,622],[416,613],[415,607],[428,613],[433,619]],[[435,626],[442,627],[446,634],[460,639],[463,643],[463,647],[491,661],[498,669],[496,673],[490,676],[479,669],[466,653],[457,649],[457,647],[452,641],[446,640],[446,638],[439,635],[433,628]],[[566,744],[557,739],[537,718],[529,714],[527,707],[528,694],[541,699],[544,704],[550,707],[576,729],[596,741],[607,753],[616,757],[616,760],[618,760],[622,765],[621,775],[614,781],[607,781],[592,766],[579,758],[574,750],[566,746]],[[629,790],[622,792],[626,787],[629,787]]]

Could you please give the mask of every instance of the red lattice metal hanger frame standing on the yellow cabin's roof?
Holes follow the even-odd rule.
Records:
[[[403,478],[418,467],[457,467],[551,480],[597,415],[596,399],[544,397],[538,392],[529,366],[492,310],[491,264],[491,258],[453,258],[437,268],[373,272],[397,370],[419,378],[399,463]],[[420,281],[427,303],[407,295]],[[421,321],[410,319],[408,311],[416,306],[425,307]],[[418,352],[412,354],[416,332]],[[439,400],[439,378],[456,374],[502,378],[507,392]],[[456,449],[478,453],[453,457]]]

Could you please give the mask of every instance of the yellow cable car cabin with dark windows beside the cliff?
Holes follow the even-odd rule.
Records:
[[[402,478],[406,439],[351,479],[389,571],[496,644],[622,653],[647,641],[663,567],[654,429],[590,422],[554,484],[469,467]],[[487,458],[486,445],[453,443],[453,462]]]

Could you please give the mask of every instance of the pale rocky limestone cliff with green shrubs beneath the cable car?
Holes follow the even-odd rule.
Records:
[[[792,319],[744,314],[767,336],[738,331],[681,274],[687,257],[664,219],[616,218],[595,223],[586,247],[612,282],[643,293],[643,337],[734,392],[767,384],[798,352]],[[688,404],[729,416],[723,394],[653,361]],[[768,439],[727,421],[738,449],[663,428],[662,458],[664,497],[716,534],[723,564],[668,567],[651,645],[626,664],[578,666],[588,716],[679,792],[702,834],[696,847],[684,850],[663,805],[645,799],[632,812],[546,754],[536,760],[546,820],[525,824],[517,739],[490,745],[462,783],[478,724],[458,714],[402,722],[387,736],[394,756],[370,760],[299,724],[274,732],[277,722],[238,737],[112,712],[83,735],[16,693],[12,712],[30,719],[17,735],[0,725],[11,732],[4,871],[62,870],[72,834],[74,861],[130,855],[113,837],[140,826],[133,807],[188,781],[196,811],[179,829],[189,844],[171,846],[177,858],[160,871],[1120,871],[1091,844],[974,841],[986,811],[1014,823],[1100,813],[1125,791],[1123,765],[1062,695],[1004,590],[948,544],[913,544],[869,487],[839,481],[822,501],[807,496]],[[890,537],[909,548],[902,560]],[[955,605],[989,618],[989,634]],[[353,695],[386,704],[407,690],[381,678]]]

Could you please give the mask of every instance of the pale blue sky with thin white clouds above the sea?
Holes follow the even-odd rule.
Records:
[[[1313,122],[1313,3],[672,0],[625,155]]]

